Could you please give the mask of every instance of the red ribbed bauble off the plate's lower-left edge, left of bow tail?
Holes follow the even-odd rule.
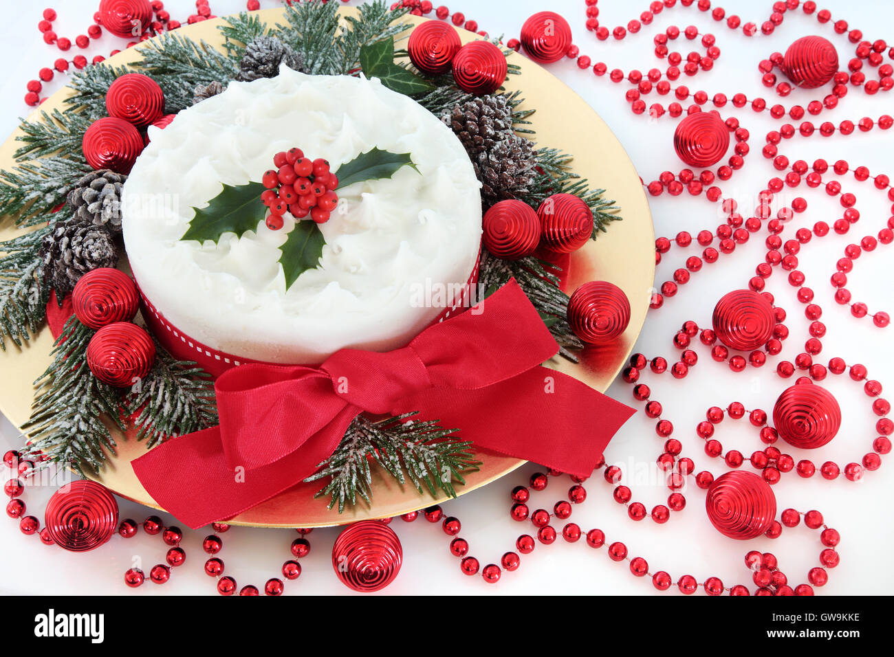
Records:
[[[117,531],[118,502],[102,484],[89,479],[73,481],[46,503],[44,525],[54,543],[65,550],[93,550]]]

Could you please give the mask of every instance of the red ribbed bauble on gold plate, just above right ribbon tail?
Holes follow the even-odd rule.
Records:
[[[589,344],[611,342],[627,329],[630,302],[624,291],[606,281],[581,285],[568,302],[568,323]]]

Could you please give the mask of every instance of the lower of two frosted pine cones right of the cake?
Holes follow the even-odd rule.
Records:
[[[481,203],[485,209],[528,191],[536,175],[534,142],[513,134],[489,150],[472,157],[475,175],[481,181]]]

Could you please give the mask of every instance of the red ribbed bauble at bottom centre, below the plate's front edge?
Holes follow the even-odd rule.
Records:
[[[394,530],[376,520],[345,529],[333,545],[333,569],[354,591],[369,593],[392,583],[401,570],[403,550]]]

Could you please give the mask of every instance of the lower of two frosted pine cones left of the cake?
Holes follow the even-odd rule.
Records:
[[[104,226],[77,221],[58,222],[40,245],[46,280],[60,300],[74,290],[83,274],[118,264],[114,238]]]

